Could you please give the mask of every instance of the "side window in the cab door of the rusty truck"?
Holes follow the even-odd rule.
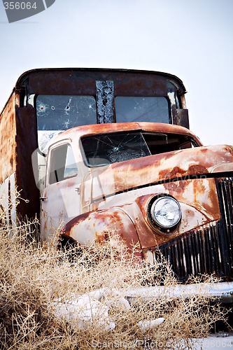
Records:
[[[73,150],[69,144],[58,146],[51,151],[49,183],[57,183],[78,174]]]

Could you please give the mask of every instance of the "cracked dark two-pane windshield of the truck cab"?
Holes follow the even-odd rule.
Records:
[[[101,134],[85,137],[81,141],[89,167],[198,146],[187,135],[155,132]]]

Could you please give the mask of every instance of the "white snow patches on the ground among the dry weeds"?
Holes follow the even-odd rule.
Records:
[[[100,300],[101,297],[107,293],[114,294],[113,290],[99,289],[93,290],[90,293],[83,295],[70,295],[66,300],[55,300],[50,305],[50,310],[58,318],[65,318],[66,321],[76,323],[78,328],[85,329],[88,324],[92,324],[93,321],[97,323],[99,328],[105,328],[107,331],[111,331],[115,328],[115,323],[108,316],[108,307],[110,305],[103,304]],[[129,309],[129,302],[122,295],[115,291],[117,296],[117,302],[115,300],[115,306],[120,306],[123,309]],[[111,305],[113,306],[113,305]],[[140,321],[138,323],[139,328],[147,330],[148,328],[160,327],[164,318],[156,318],[155,320]],[[140,341],[139,341],[140,342]],[[233,349],[233,334],[227,334],[224,332],[218,332],[210,335],[207,338],[190,339],[189,345],[192,346],[192,350],[220,350],[220,349]],[[144,344],[146,345],[146,344]],[[150,344],[150,349],[153,349],[153,344]],[[190,349],[185,347],[187,342],[181,341],[174,350],[178,349]],[[95,346],[94,346],[95,347]],[[97,346],[101,347],[101,346]],[[136,343],[137,347],[137,343]],[[156,344],[155,344],[156,349]],[[145,348],[146,349],[146,348]]]

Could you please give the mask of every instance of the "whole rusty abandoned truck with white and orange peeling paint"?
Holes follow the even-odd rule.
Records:
[[[137,258],[160,252],[178,280],[213,274],[233,293],[233,148],[189,130],[185,87],[168,73],[35,69],[0,119],[1,206],[8,225],[40,217],[88,245],[119,237]],[[14,190],[21,191],[14,205]],[[224,288],[223,288],[224,286]]]

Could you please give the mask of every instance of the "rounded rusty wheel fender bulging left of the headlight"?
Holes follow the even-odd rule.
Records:
[[[106,241],[110,241],[112,246],[119,246],[122,241],[122,250],[127,248],[129,253],[134,252],[140,260],[142,258],[134,223],[119,207],[81,214],[66,223],[61,235],[70,237],[84,246],[90,246],[93,242],[101,244]]]

